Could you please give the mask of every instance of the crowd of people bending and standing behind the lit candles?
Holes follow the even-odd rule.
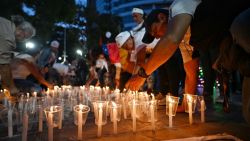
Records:
[[[243,115],[250,122],[249,6],[247,0],[175,0],[169,9],[153,9],[148,15],[133,8],[131,18],[137,25],[116,36],[108,48],[110,55],[92,49],[87,60],[75,60],[70,66],[56,62],[58,41],[36,55],[14,53],[15,41],[32,37],[35,29],[20,17],[0,18],[1,85],[12,94],[17,88],[40,91],[63,84],[126,88],[154,92],[160,104],[169,93],[197,94],[202,66],[205,81],[200,94],[209,100],[218,79],[226,112],[236,86],[232,82],[241,86],[243,81]],[[110,57],[114,52],[115,61]],[[180,104],[178,112],[182,111]]]

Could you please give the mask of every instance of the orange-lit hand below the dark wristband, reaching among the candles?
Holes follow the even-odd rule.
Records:
[[[144,84],[145,80],[146,78],[134,75],[126,83],[126,89],[137,91]]]

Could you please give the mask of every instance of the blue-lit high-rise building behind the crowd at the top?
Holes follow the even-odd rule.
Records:
[[[144,10],[148,14],[154,8],[168,8],[173,0],[96,0],[99,13],[112,13],[122,17],[124,30],[135,26],[131,11],[134,7]]]

